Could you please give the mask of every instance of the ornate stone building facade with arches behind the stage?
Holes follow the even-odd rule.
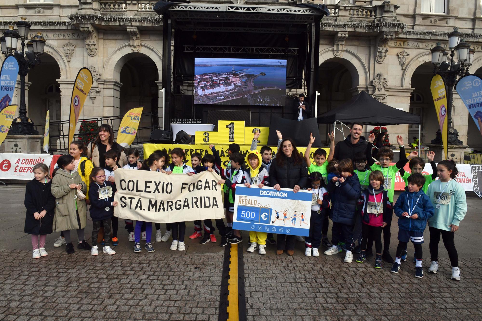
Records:
[[[289,5],[287,0],[263,1],[271,3]],[[482,74],[480,1],[325,3],[331,14],[321,20],[318,114],[365,90],[391,107],[421,115],[422,142],[429,143],[438,127],[429,91],[430,48],[438,41],[446,46],[448,33],[459,27],[476,50],[470,71]],[[0,0],[1,29],[25,16],[32,23],[32,36],[41,31],[47,40],[42,64],[28,75],[29,117],[41,125],[48,109],[51,120],[67,120],[71,90],[81,67],[89,67],[94,75],[81,119],[123,115],[137,106],[162,115],[162,19],[152,10],[154,4],[147,0]],[[192,91],[192,83],[184,87]],[[287,94],[297,92],[301,91]],[[13,102],[17,99],[16,92]],[[456,93],[453,126],[464,145],[482,149],[477,127]],[[320,130],[326,135],[329,129],[322,125]],[[390,126],[388,132],[407,140],[418,136],[418,126]]]

